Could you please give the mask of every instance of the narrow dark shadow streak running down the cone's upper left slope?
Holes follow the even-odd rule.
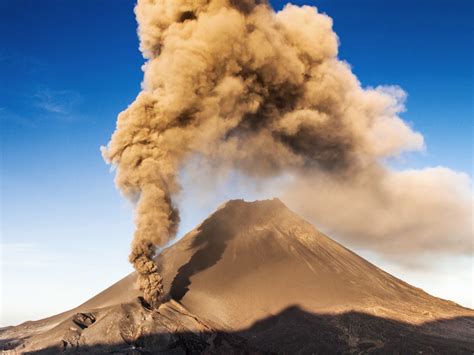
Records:
[[[230,203],[238,203],[231,201]],[[235,237],[241,226],[233,221],[238,210],[226,208],[218,210],[212,218],[206,219],[198,229],[190,248],[196,252],[181,266],[171,283],[171,298],[180,301],[189,291],[191,277],[215,265],[221,258],[229,240]],[[241,213],[240,213],[241,214]],[[241,218],[241,217],[240,217]],[[224,222],[224,223],[223,223]],[[205,236],[205,238],[201,237]]]

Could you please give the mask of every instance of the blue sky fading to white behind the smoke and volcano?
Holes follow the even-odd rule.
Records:
[[[408,93],[403,118],[426,141],[403,167],[473,169],[471,0],[320,0],[340,57],[364,86]],[[272,1],[276,9],[283,1]],[[132,207],[99,147],[140,90],[131,0],[0,0],[1,322],[72,308],[126,273]],[[183,203],[181,234],[219,202]],[[349,246],[350,247],[350,246]],[[473,305],[472,259],[406,270],[360,251],[435,295]]]

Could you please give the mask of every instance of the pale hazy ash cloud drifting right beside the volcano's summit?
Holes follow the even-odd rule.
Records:
[[[472,255],[472,187],[444,167],[365,171],[352,180],[300,176],[282,198],[329,235],[407,267]]]

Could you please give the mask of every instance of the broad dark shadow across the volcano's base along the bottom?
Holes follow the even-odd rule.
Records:
[[[237,332],[170,331],[133,343],[61,343],[30,354],[472,354],[473,326],[474,317],[416,326],[359,312],[313,314],[293,306]]]

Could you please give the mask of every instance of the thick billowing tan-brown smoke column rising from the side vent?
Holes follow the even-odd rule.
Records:
[[[130,261],[153,306],[162,293],[153,257],[175,236],[177,175],[191,157],[252,177],[320,171],[344,180],[383,174],[380,159],[423,146],[397,116],[403,91],[362,89],[337,58],[331,19],[314,7],[139,0],[135,11],[143,90],[103,154],[137,202]]]

